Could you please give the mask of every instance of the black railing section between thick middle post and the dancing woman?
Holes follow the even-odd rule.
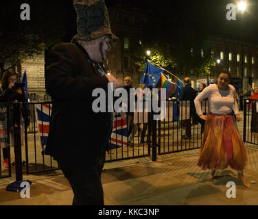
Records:
[[[167,101],[167,114],[159,120],[159,155],[198,149],[202,144],[204,120],[195,112],[193,102]],[[202,101],[202,112],[209,112],[209,101]]]

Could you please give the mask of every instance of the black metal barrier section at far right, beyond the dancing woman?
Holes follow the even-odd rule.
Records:
[[[258,145],[258,100],[244,99],[243,141]]]

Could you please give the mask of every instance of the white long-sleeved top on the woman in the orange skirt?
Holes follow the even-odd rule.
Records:
[[[209,112],[213,114],[226,115],[230,114],[232,110],[235,114],[239,114],[235,88],[231,84],[228,86],[228,90],[220,90],[217,84],[213,83],[204,88],[194,99],[197,114],[202,114],[201,102],[206,98],[209,99]]]

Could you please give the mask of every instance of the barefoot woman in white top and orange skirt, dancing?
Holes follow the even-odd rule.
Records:
[[[218,83],[204,88],[194,100],[198,116],[206,120],[198,166],[203,170],[211,169],[212,179],[215,170],[231,166],[237,170],[238,179],[244,186],[250,188],[243,173],[247,163],[246,149],[235,123],[235,119],[239,122],[242,118],[235,99],[235,88],[228,84],[230,79],[229,71],[221,70]],[[205,98],[209,98],[207,116],[202,114],[201,109],[201,101]]]

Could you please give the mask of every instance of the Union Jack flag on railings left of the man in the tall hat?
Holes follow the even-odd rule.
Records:
[[[49,120],[52,111],[52,105],[35,104],[35,111],[41,147],[42,150],[45,151],[45,146],[47,145],[47,137],[49,133]]]

